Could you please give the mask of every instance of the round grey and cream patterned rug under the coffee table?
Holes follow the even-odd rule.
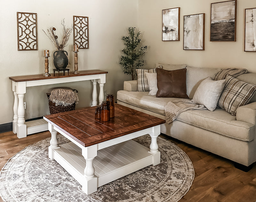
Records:
[[[69,140],[58,135],[60,144]],[[149,147],[145,135],[135,141]],[[86,195],[82,186],[56,161],[48,158],[50,138],[26,147],[0,173],[0,194],[6,202],[174,202],[184,196],[194,179],[192,162],[178,146],[158,137],[161,162],[98,188]]]

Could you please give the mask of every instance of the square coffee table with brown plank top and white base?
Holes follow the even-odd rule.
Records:
[[[94,107],[44,116],[52,134],[49,158],[57,161],[87,194],[120,177],[160,163],[157,137],[165,120],[115,105],[108,122],[94,118]],[[57,132],[70,140],[59,145]],[[150,148],[133,141],[149,134]]]

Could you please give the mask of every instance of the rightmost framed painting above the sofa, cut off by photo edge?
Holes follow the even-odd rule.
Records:
[[[247,8],[244,13],[244,51],[256,52],[256,8]]]

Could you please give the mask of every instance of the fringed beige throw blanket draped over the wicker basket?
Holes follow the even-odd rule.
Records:
[[[78,94],[71,88],[56,88],[51,91],[49,100],[55,102],[55,106],[67,107],[74,102],[78,103]]]

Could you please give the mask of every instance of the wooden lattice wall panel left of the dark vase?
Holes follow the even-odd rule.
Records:
[[[18,50],[38,50],[37,14],[17,12]]]

